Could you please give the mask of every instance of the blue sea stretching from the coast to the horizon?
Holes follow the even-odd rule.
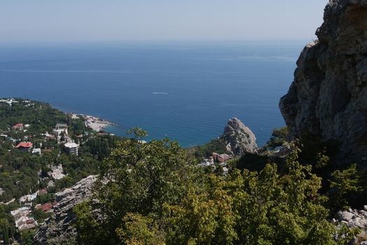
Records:
[[[284,125],[279,98],[303,43],[0,46],[0,97],[49,102],[131,127],[148,139],[205,144],[237,117],[258,145]]]

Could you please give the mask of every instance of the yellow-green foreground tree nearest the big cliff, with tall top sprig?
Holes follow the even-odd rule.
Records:
[[[241,244],[333,244],[333,225],[318,194],[321,179],[310,166],[300,165],[298,151],[286,160],[287,171],[277,174],[276,165],[260,172],[235,174],[241,183],[233,195],[240,219]],[[233,176],[231,177],[233,178]]]

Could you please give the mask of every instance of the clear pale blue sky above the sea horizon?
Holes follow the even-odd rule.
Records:
[[[0,42],[310,40],[327,0],[3,0]]]

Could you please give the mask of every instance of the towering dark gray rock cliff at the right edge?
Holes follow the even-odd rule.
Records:
[[[367,166],[367,1],[331,0],[317,36],[280,110],[291,137],[338,141],[340,160]]]

